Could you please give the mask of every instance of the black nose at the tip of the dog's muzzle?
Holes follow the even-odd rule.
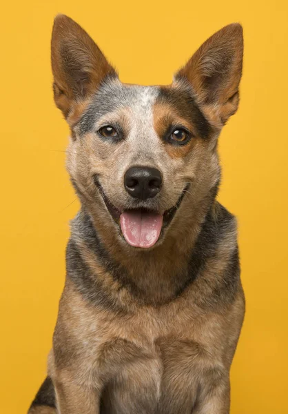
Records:
[[[161,173],[156,168],[131,167],[125,172],[124,185],[132,197],[146,200],[161,190]]]

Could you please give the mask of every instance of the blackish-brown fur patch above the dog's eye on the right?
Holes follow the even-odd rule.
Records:
[[[203,139],[209,137],[211,126],[200,111],[188,85],[187,87],[177,86],[177,88],[161,86],[156,103],[168,103],[169,106],[175,108],[179,116],[187,119],[194,126],[198,137]]]

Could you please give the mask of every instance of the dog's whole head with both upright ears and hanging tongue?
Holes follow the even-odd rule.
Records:
[[[242,28],[208,39],[170,86],[121,83],[77,23],[56,17],[54,99],[70,124],[68,171],[119,242],[152,248],[220,177],[217,138],[238,107]],[[188,217],[187,217],[188,218]]]

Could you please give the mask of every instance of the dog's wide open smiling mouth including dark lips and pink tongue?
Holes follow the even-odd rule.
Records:
[[[105,195],[97,177],[94,177],[95,184],[103,197],[105,205],[110,215],[120,225],[121,233],[130,246],[149,248],[158,241],[163,228],[172,221],[176,211],[181,205],[181,201],[187,191],[189,184],[185,186],[176,204],[165,210],[163,214],[157,213],[146,208],[135,208],[120,211],[116,208]]]

